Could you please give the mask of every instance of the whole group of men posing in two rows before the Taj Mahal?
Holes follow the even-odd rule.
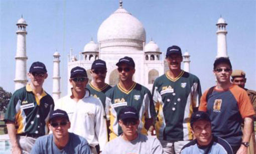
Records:
[[[152,94],[133,80],[135,62],[124,56],[116,63],[117,85],[105,83],[106,63],[97,59],[90,83],[84,68],[71,69],[72,92],[57,102],[42,88],[45,65],[34,62],[28,73],[31,82],[14,92],[5,115],[12,153],[245,154],[254,150],[248,150],[248,142],[254,136],[251,103],[256,104],[256,94],[245,89],[250,99],[243,89],[245,73],[233,71],[230,82],[230,60],[217,58],[216,86],[202,95],[199,78],[181,69],[179,46],[168,47],[166,60],[169,70],[155,80]],[[48,128],[51,134],[45,135]],[[155,130],[157,138],[148,136]]]

